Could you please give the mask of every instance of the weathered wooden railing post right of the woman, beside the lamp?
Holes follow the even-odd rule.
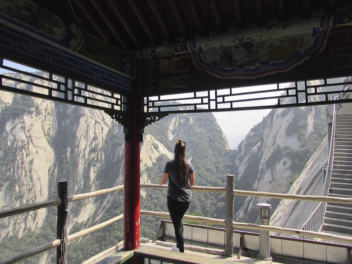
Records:
[[[230,257],[233,254],[233,189],[234,189],[233,174],[227,175],[226,184],[226,241],[225,241],[225,255]]]

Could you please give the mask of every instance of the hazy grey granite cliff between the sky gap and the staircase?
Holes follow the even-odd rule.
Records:
[[[236,189],[287,193],[326,134],[323,107],[272,110],[240,143]],[[301,160],[298,160],[301,159]],[[303,174],[299,179],[304,179]],[[303,181],[303,180],[302,180]],[[279,201],[248,197],[235,204],[237,221],[256,220],[256,204]]]

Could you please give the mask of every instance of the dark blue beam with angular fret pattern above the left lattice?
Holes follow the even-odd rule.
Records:
[[[99,85],[114,92],[131,93],[132,78],[0,24],[0,54],[43,70]]]

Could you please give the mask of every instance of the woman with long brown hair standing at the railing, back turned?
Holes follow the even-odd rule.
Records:
[[[196,182],[194,167],[186,159],[186,142],[181,139],[175,145],[174,158],[165,164],[159,186],[165,184],[167,178],[167,207],[177,241],[177,245],[173,246],[172,250],[185,252],[182,218],[190,207],[192,199],[191,186],[195,185]]]

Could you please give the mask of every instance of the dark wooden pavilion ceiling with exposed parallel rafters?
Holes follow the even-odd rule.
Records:
[[[352,9],[348,0],[36,0],[122,48],[150,48]]]

